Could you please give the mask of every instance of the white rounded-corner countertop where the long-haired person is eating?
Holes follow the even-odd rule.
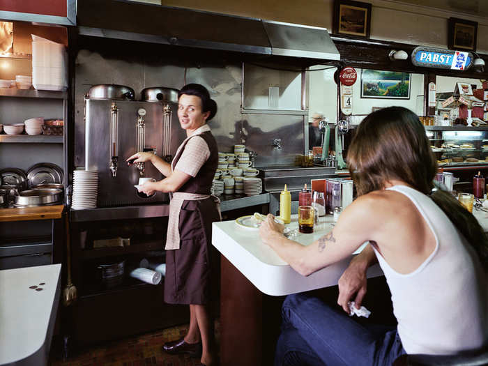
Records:
[[[488,231],[488,213],[475,210],[473,214],[485,232]],[[296,215],[292,215],[291,223],[286,226],[290,229],[298,227]],[[333,218],[326,215],[325,218],[321,218],[321,227],[318,230],[316,228],[313,234],[298,234],[293,240],[310,245],[332,228]],[[213,223],[212,244],[259,291],[272,296],[335,286],[352,257],[304,277],[278,257],[268,245],[261,242],[257,229],[243,228],[234,220]],[[360,247],[357,252],[362,249],[363,247]],[[379,275],[383,273],[377,264],[369,268],[368,277]]]

